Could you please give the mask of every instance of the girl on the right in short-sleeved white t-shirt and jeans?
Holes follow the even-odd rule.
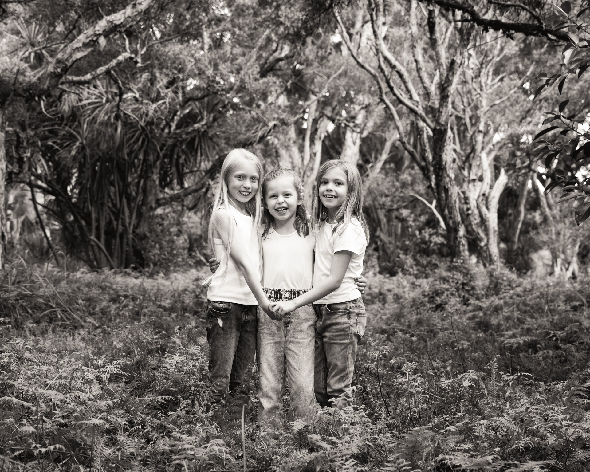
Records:
[[[271,302],[285,316],[313,302],[317,314],[314,389],[319,404],[352,404],[356,349],[366,312],[355,278],[363,270],[369,232],[363,217],[360,174],[355,165],[329,160],[317,175],[312,224],[319,224],[313,289],[289,301]]]

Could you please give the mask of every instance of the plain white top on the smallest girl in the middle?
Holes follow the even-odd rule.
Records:
[[[313,248],[316,235],[297,231],[282,235],[271,230],[262,240],[264,281],[269,289],[309,290],[313,283]]]

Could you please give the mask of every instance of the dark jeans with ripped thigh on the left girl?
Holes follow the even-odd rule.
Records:
[[[258,305],[207,300],[209,402],[218,403],[228,389],[240,402],[250,401],[250,382]]]

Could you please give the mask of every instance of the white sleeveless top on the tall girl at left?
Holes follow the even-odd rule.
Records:
[[[260,250],[258,249],[258,235],[254,231],[254,218],[241,214],[231,205],[230,214],[234,217],[237,225],[237,230],[234,228],[232,238],[234,241],[241,241],[244,245],[248,255],[250,255],[251,267],[260,278]],[[236,267],[234,261],[228,256],[223,242],[214,238],[213,247],[215,257],[219,259],[220,263],[207,290],[207,299],[244,305],[258,304],[254,294],[248,288],[241,270]]]

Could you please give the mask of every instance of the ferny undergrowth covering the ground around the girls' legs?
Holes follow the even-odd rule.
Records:
[[[357,405],[278,431],[253,398],[244,462],[240,422],[201,407],[202,273],[9,266],[2,470],[590,470],[588,280],[368,277]]]

